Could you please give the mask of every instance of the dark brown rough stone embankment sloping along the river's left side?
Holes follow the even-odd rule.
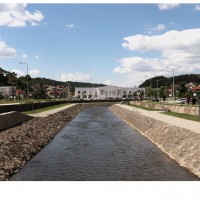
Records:
[[[48,117],[33,118],[20,126],[0,132],[0,180],[7,180],[23,167],[79,112],[98,105],[76,104]]]

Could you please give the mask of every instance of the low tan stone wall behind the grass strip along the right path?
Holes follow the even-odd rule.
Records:
[[[150,102],[138,102],[138,101],[131,101],[131,104],[133,105],[139,105],[144,106],[147,108],[153,108],[157,110],[168,110],[171,112],[177,112],[177,113],[184,113],[189,115],[199,115],[199,108],[194,106],[188,106],[188,105],[165,105],[165,104],[156,104],[156,103],[150,103]]]

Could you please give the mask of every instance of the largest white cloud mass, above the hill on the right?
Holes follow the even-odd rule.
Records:
[[[120,59],[114,68],[115,73],[125,74],[127,80],[139,83],[146,79],[145,73],[172,76],[172,70],[166,69],[169,66],[181,67],[175,70],[177,74],[200,71],[200,29],[173,30],[153,36],[133,35],[124,40],[124,48],[142,53],[140,57]]]

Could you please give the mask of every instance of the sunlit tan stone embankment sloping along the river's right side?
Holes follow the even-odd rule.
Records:
[[[110,109],[181,166],[200,177],[200,134],[141,115],[118,105],[113,105]]]

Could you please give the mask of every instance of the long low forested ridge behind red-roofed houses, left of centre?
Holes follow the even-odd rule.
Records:
[[[62,82],[62,81],[55,81],[52,79],[47,79],[47,78],[32,78],[31,83],[34,84],[44,84],[44,85],[52,85],[52,86],[63,86],[66,85],[70,87],[70,91],[75,91],[75,87],[100,87],[100,86],[105,86],[104,84],[97,84],[97,83],[84,83],[84,82],[72,82],[72,81],[67,81],[67,82]]]

